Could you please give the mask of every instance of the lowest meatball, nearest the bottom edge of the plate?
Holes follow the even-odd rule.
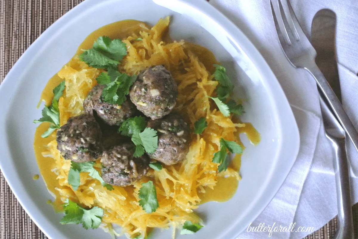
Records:
[[[124,143],[103,151],[102,178],[115,186],[128,186],[143,177],[149,169],[149,158],[143,155],[135,158],[134,144]]]

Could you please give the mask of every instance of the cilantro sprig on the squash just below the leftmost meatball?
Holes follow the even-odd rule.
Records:
[[[103,187],[106,187],[107,190],[110,191],[113,190],[112,185],[109,185],[108,183],[103,181],[98,171],[95,168],[93,168],[94,164],[95,162],[84,162],[84,163],[76,163],[73,161],[71,162],[71,168],[69,169],[68,172],[67,181],[68,184],[72,186],[74,191],[76,191],[78,186],[81,184],[79,180],[79,173],[81,172],[88,172],[89,176],[100,181],[101,185]]]

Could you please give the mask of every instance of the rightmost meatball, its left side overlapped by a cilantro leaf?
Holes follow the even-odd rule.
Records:
[[[158,148],[148,154],[151,159],[166,165],[183,161],[189,151],[190,128],[180,115],[171,113],[163,119],[150,120],[147,127],[158,131]]]

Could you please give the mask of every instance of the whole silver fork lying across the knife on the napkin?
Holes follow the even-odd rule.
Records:
[[[300,27],[291,4],[287,0],[271,0],[271,8],[277,35],[287,59],[296,68],[303,68],[311,73],[335,116],[342,124],[344,131],[358,150],[357,130],[316,65],[315,58],[317,53]]]

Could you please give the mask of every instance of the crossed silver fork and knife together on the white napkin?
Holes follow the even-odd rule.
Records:
[[[285,56],[294,67],[310,72],[317,82],[325,133],[332,144],[335,156],[338,229],[334,239],[353,239],[352,204],[345,140],[348,136],[358,150],[358,133],[345,113],[340,99],[334,41],[335,14],[328,9],[320,10],[316,14],[311,29],[311,44],[300,27],[288,0],[271,0],[271,9]],[[324,56],[322,56],[323,52]]]

